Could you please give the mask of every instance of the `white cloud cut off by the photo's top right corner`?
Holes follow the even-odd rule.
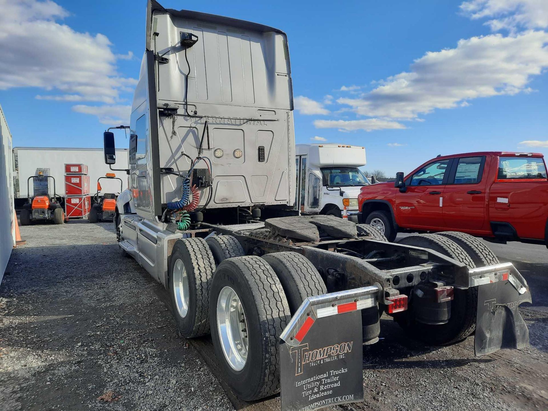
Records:
[[[473,20],[490,18],[485,24],[493,31],[548,27],[546,0],[471,0],[460,9]]]

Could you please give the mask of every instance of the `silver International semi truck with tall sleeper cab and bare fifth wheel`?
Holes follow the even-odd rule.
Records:
[[[150,0],[145,44],[118,244],[168,290],[182,336],[211,334],[239,398],[281,386],[284,410],[360,401],[362,344],[379,340],[382,312],[426,344],[475,332],[478,355],[527,345],[527,283],[473,237],[390,243],[298,215],[282,31]],[[112,167],[113,133],[104,141]]]

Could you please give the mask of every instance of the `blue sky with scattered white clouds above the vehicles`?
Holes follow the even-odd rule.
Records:
[[[99,147],[102,131],[125,121],[145,5],[0,0],[0,104],[14,146]],[[438,154],[548,154],[546,1],[212,0],[192,8],[286,31],[298,143],[363,145],[367,169],[389,175]]]

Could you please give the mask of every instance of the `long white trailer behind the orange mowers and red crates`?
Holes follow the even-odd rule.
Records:
[[[117,149],[116,155],[117,164],[123,168],[127,167],[128,150]],[[127,174],[123,171],[112,171],[109,166],[105,164],[102,148],[72,149],[65,147],[14,147],[13,164],[15,172],[15,198],[27,198],[27,179],[31,175],[35,175],[37,168],[49,168],[49,175],[55,178],[55,189],[57,191],[57,195],[64,196],[65,163],[88,165],[90,193],[92,195],[96,192],[97,180],[99,177],[104,177],[106,173],[115,173],[118,178],[121,178],[123,190],[128,187]],[[101,193],[118,193],[119,190],[120,184],[118,180],[101,180]]]

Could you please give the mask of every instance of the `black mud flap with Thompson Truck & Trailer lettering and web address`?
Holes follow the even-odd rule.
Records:
[[[282,411],[363,401],[361,312],[308,318],[298,345],[280,340]]]

